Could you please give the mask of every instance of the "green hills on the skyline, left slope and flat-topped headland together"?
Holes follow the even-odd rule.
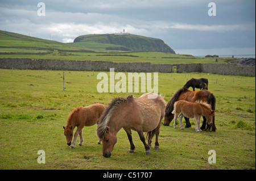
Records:
[[[0,48],[11,48],[13,49],[12,52],[18,51],[20,53],[32,52],[31,50],[35,52],[39,50],[40,52],[58,50],[61,52],[157,51],[175,54],[174,50],[165,44],[163,40],[138,35],[83,35],[76,37],[74,43],[60,43],[1,30]]]

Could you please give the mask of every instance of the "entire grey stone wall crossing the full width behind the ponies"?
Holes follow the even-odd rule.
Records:
[[[34,70],[81,70],[81,71],[115,71],[162,72],[171,73],[174,65],[151,64],[150,62],[104,62],[76,60],[31,60],[30,58],[0,58],[1,69]],[[225,75],[251,75],[255,77],[255,66],[237,66],[234,64],[176,64],[177,73],[205,72]]]

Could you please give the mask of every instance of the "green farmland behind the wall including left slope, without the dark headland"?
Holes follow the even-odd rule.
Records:
[[[150,39],[148,37],[144,38]],[[193,57],[186,54],[106,50],[105,48],[109,46],[110,44],[97,43],[96,41],[60,43],[18,33],[0,31],[0,58],[150,62],[151,64],[226,64],[227,60],[236,60],[236,58],[217,58],[218,61],[216,62],[216,58]],[[120,45],[114,44],[111,44],[111,46],[120,47]]]

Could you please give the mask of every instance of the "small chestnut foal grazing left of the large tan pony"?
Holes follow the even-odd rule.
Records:
[[[68,146],[71,145],[73,138],[73,130],[77,127],[74,140],[70,148],[74,148],[76,145],[76,138],[80,136],[79,146],[82,145],[82,128],[90,127],[98,122],[102,113],[106,110],[104,104],[92,104],[86,107],[76,107],[71,113],[69,113],[67,124],[64,128],[64,135],[66,136]],[[98,140],[98,144],[101,143],[101,140]]]

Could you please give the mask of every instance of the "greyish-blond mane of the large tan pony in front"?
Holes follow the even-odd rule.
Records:
[[[98,122],[97,126],[97,136],[103,140],[105,134],[106,134],[106,127],[108,126],[109,120],[112,117],[115,109],[120,106],[122,103],[128,102],[131,99],[133,99],[133,95],[127,96],[127,98],[114,98],[111,103],[109,103],[109,106],[106,108],[105,112],[100,118],[100,121]]]

